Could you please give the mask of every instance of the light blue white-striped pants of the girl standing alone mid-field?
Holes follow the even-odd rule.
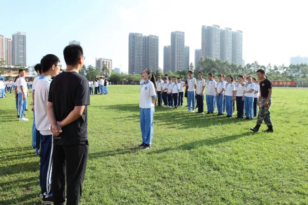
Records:
[[[153,139],[153,121],[154,121],[154,107],[140,108],[140,129],[142,135],[142,142],[145,144],[152,144]]]

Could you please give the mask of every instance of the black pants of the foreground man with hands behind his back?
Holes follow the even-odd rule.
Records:
[[[52,158],[51,187],[54,204],[65,202],[65,176],[67,205],[76,205],[80,201],[82,183],[89,154],[88,141],[79,144],[54,144]]]

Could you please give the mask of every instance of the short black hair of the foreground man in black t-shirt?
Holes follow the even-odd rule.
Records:
[[[83,50],[80,45],[68,45],[63,50],[64,61],[66,65],[78,64],[79,58],[83,57]]]

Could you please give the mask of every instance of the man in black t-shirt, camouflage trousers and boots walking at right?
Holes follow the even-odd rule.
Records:
[[[263,132],[274,132],[272,120],[270,119],[270,105],[272,104],[272,83],[269,79],[265,77],[265,70],[257,70],[257,76],[261,80],[260,82],[260,91],[261,95],[259,97],[259,112],[257,125],[254,128],[250,128],[253,132],[258,132],[259,128],[264,120],[268,129],[263,130]]]

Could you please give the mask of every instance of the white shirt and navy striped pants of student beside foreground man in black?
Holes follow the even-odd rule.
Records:
[[[47,117],[47,101],[51,79],[40,76],[36,83],[34,95],[35,124],[41,139],[40,186],[44,197],[52,195],[51,171],[53,135]]]

